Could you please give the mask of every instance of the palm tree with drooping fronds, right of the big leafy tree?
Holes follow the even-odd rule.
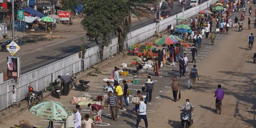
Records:
[[[126,40],[127,34],[131,27],[131,14],[137,16],[140,20],[140,17],[152,17],[152,13],[149,13],[150,8],[146,5],[146,3],[153,3],[153,0],[126,0],[127,8],[124,9],[126,11],[127,16],[122,23],[119,24],[117,28],[118,33],[118,45],[119,52],[124,51],[124,42]]]

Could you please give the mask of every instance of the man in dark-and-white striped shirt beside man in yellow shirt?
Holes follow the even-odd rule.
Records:
[[[109,91],[109,111],[111,114],[110,120],[117,121],[116,109],[118,108],[118,100],[117,97],[113,94],[112,91]]]

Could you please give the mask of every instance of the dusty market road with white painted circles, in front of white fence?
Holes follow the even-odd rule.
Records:
[[[253,8],[255,9],[255,8]],[[234,16],[240,15],[239,13],[232,13],[232,19]],[[247,16],[248,17],[248,16]],[[253,16],[251,16],[253,17]],[[244,21],[246,23],[247,20]],[[216,23],[216,22],[215,22]],[[213,24],[213,31],[215,25]],[[256,127],[255,122],[255,64],[251,57],[253,52],[249,51],[247,45],[247,38],[251,32],[255,29],[246,30],[244,27],[242,32],[238,32],[237,29],[231,28],[229,34],[216,34],[215,45],[210,45],[210,40],[205,39],[202,43],[202,47],[198,51],[197,69],[199,74],[199,81],[197,81],[197,89],[187,89],[186,83],[188,80],[189,70],[195,63],[189,63],[189,70],[186,71],[185,77],[178,77],[178,81],[181,84],[181,100],[173,102],[173,96],[170,89],[170,82],[173,80],[173,76],[179,76],[179,67],[161,68],[159,70],[160,77],[152,77],[155,83],[155,90],[153,92],[152,102],[147,103],[147,119],[149,123],[148,128],[180,128],[180,109],[178,106],[185,103],[185,99],[190,99],[190,102],[196,107],[194,111],[194,124],[191,128],[253,128]],[[159,49],[160,47],[158,47]],[[190,48],[185,49],[188,60],[191,61]],[[131,58],[136,56],[127,57],[122,60],[123,62],[130,63]],[[237,61],[239,60],[239,61]],[[122,69],[122,68],[121,68]],[[135,70],[135,68],[130,68]],[[110,73],[113,67],[106,67],[104,73]],[[150,72],[152,73],[152,72]],[[103,77],[109,77],[108,75],[100,75],[98,77],[87,77],[87,80],[91,81],[91,88],[87,93],[97,96],[103,93],[102,88],[105,85],[102,82]],[[132,79],[130,76],[120,76],[120,78],[127,80]],[[139,76],[139,84],[129,84],[129,89],[132,95],[136,94],[136,90],[140,90],[146,80],[145,76]],[[215,98],[214,91],[217,85],[221,84],[225,91],[225,97],[223,99],[222,114],[218,115],[214,112]],[[123,85],[122,85],[123,87]],[[77,90],[71,90],[69,96],[61,97],[61,99],[49,98],[48,100],[60,101],[67,105],[69,109],[74,108],[73,104],[70,104],[71,96],[81,96],[84,92]],[[130,98],[132,98],[132,95]],[[131,99],[130,99],[131,101]],[[130,104],[134,107],[134,104]],[[88,107],[82,107],[82,115],[88,114],[90,109]],[[119,111],[120,116],[118,121],[110,121],[109,110],[104,109],[102,114],[103,123],[96,125],[97,128],[131,128],[136,123],[136,113],[132,113],[129,110]],[[93,116],[95,113],[93,114]],[[34,126],[47,126],[48,121],[35,117],[29,112],[20,113],[19,117],[14,116],[10,120],[6,120],[6,125],[0,127],[10,127],[13,124],[18,124],[23,117],[29,120]],[[62,122],[54,122],[54,127],[60,127]],[[107,126],[103,126],[107,125]],[[145,128],[144,121],[140,123],[140,128]]]

